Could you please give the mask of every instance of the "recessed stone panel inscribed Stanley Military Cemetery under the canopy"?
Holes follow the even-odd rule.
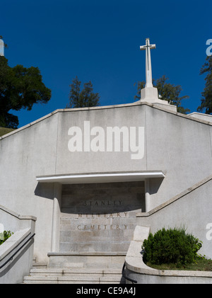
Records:
[[[127,251],[142,209],[142,181],[63,185],[60,251]]]

